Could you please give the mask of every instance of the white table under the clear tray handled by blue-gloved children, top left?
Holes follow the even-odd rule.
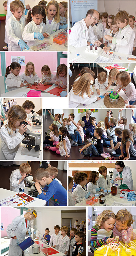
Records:
[[[42,43],[45,43],[46,41],[48,41],[49,43],[51,43],[51,45],[48,46],[48,49],[46,50],[45,48],[43,48],[42,50],[39,50],[39,51],[68,51],[68,48],[65,47],[64,44],[58,45],[53,42],[53,36],[57,35],[62,30],[64,30],[64,29],[60,29],[60,30],[54,32],[53,34],[50,35],[50,37],[46,37],[43,40],[39,40],[38,43],[33,44],[32,46],[36,46],[36,45],[39,45],[39,44],[42,44]],[[29,48],[29,50],[25,49],[24,51],[33,51],[33,50],[31,48]]]

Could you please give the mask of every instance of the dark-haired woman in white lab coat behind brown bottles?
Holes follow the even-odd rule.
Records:
[[[133,189],[132,172],[129,166],[125,166],[123,161],[117,161],[115,163],[115,169],[113,170],[113,176],[111,183],[118,182],[120,189]]]

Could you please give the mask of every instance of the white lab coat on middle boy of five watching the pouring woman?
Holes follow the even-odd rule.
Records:
[[[62,253],[65,253],[65,251],[68,251],[69,245],[70,245],[69,237],[67,235],[65,237],[60,236],[58,238],[58,242],[57,242],[56,246],[58,246],[58,245],[59,245],[58,250],[61,251]],[[66,255],[68,255],[68,252]]]

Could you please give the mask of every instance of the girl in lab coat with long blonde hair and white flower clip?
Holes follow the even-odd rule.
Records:
[[[83,74],[78,81],[74,82],[69,92],[69,108],[77,108],[80,103],[91,104],[101,99],[100,97],[91,97],[94,94],[92,92],[93,82],[94,78],[89,73]]]

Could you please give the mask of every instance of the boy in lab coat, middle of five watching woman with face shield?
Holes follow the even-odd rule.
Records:
[[[67,236],[68,227],[63,226],[60,230],[62,236],[59,237],[57,244],[53,247],[56,248],[56,246],[59,246],[58,251],[61,251],[62,253],[68,255],[70,245],[70,239]]]

